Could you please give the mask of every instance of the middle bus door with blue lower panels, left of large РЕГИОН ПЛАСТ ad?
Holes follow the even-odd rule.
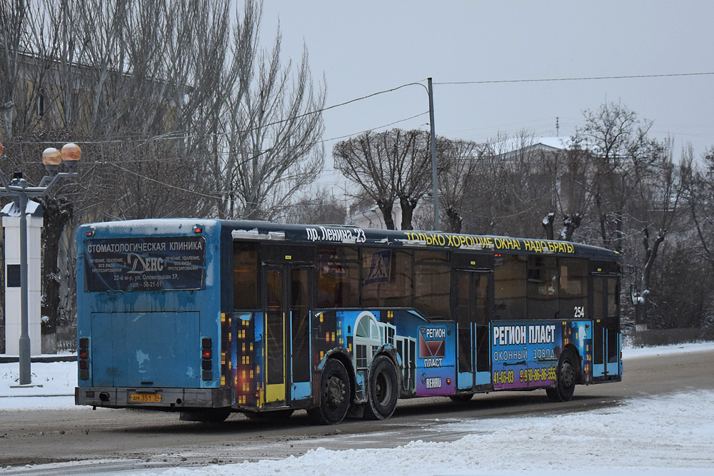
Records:
[[[492,273],[483,270],[456,270],[458,390],[491,383],[488,362],[488,289],[491,276]]]

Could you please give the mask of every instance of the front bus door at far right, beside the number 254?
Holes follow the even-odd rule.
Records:
[[[619,375],[619,290],[615,275],[593,275],[593,378]]]

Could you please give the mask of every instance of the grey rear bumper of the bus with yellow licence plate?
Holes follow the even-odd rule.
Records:
[[[77,387],[75,405],[149,410],[226,408],[233,405],[231,388]]]

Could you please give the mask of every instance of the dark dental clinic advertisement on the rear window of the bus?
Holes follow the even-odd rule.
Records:
[[[87,240],[84,265],[88,291],[203,289],[206,239],[166,236]]]

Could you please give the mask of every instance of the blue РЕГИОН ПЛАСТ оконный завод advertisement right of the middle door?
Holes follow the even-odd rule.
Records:
[[[592,352],[589,321],[508,322],[491,326],[493,388],[547,387],[555,384],[560,352],[573,345],[588,362]],[[587,374],[589,366],[583,372]]]

